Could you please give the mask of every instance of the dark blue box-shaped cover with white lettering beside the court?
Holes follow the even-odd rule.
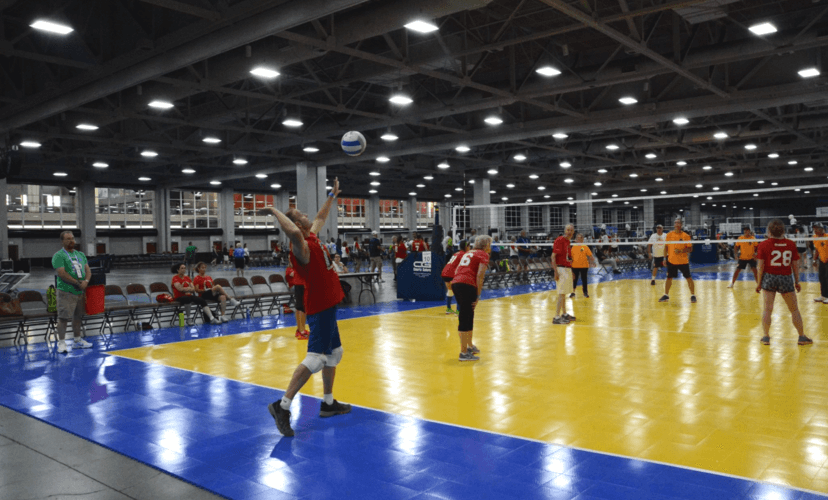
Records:
[[[445,257],[431,251],[411,252],[397,265],[397,298],[444,300],[446,287],[440,274]]]

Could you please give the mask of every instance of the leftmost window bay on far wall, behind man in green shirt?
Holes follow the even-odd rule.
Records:
[[[78,227],[75,190],[67,187],[9,184],[6,210],[12,229]]]

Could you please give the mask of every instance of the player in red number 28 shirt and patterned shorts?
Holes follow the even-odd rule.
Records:
[[[799,268],[796,261],[799,260],[799,252],[796,244],[785,238],[785,224],[779,219],[773,219],[768,224],[769,239],[759,243],[756,255],[756,267],[759,270],[759,286],[756,293],[762,291],[765,299],[765,310],[762,312],[762,329],[765,336],[762,343],[770,344],[770,320],[773,313],[773,301],[776,293],[782,294],[788,310],[791,311],[791,321],[799,333],[799,345],[813,344],[813,341],[805,336],[802,326],[802,315],[799,313],[799,305],[796,302],[796,292],[800,291]],[[793,275],[793,279],[791,276]]]

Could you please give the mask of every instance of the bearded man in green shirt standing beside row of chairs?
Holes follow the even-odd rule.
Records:
[[[58,352],[66,353],[66,323],[72,322],[72,330],[75,332],[75,343],[73,347],[86,349],[92,344],[81,337],[83,313],[86,311],[86,302],[83,292],[89,285],[89,277],[92,272],[86,262],[86,256],[75,250],[75,235],[72,231],[60,233],[60,241],[63,248],[58,250],[52,257],[52,267],[58,275],[57,279],[57,333]]]

